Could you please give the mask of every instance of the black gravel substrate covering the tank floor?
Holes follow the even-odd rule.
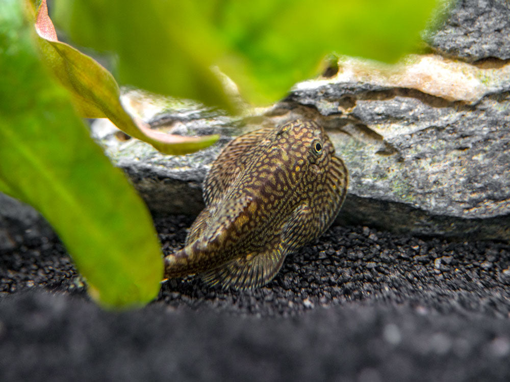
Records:
[[[156,222],[166,253],[192,219]],[[510,380],[510,245],[333,227],[266,287],[108,312],[53,235],[0,252],[0,381]]]

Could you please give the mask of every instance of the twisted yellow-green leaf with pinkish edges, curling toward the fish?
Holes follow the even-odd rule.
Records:
[[[38,45],[43,61],[72,95],[74,105],[82,117],[109,118],[119,129],[132,137],[150,143],[165,154],[186,154],[212,145],[218,135],[183,137],[150,129],[139,119],[132,118],[122,107],[119,87],[103,66],[68,44],[58,41],[46,0],[40,2],[35,13]]]

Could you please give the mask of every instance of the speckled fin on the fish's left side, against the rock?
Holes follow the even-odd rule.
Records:
[[[228,143],[213,162],[203,182],[203,199],[206,206],[217,202],[249,159],[248,152],[257,146],[274,127],[264,127],[239,135]]]

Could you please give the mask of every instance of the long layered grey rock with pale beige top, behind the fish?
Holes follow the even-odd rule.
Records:
[[[416,57],[389,74],[363,65],[345,60],[336,76],[298,84],[256,117],[209,113],[186,121],[182,111],[173,117],[167,108],[152,118],[154,125],[163,118],[166,131],[221,134],[218,144],[190,155],[163,155],[137,140],[119,141],[115,127],[104,121],[92,130],[154,214],[196,214],[203,208],[201,181],[234,135],[315,119],[350,172],[338,223],[508,240],[510,65],[481,69],[433,56]],[[126,97],[138,98],[144,110],[141,94]]]

